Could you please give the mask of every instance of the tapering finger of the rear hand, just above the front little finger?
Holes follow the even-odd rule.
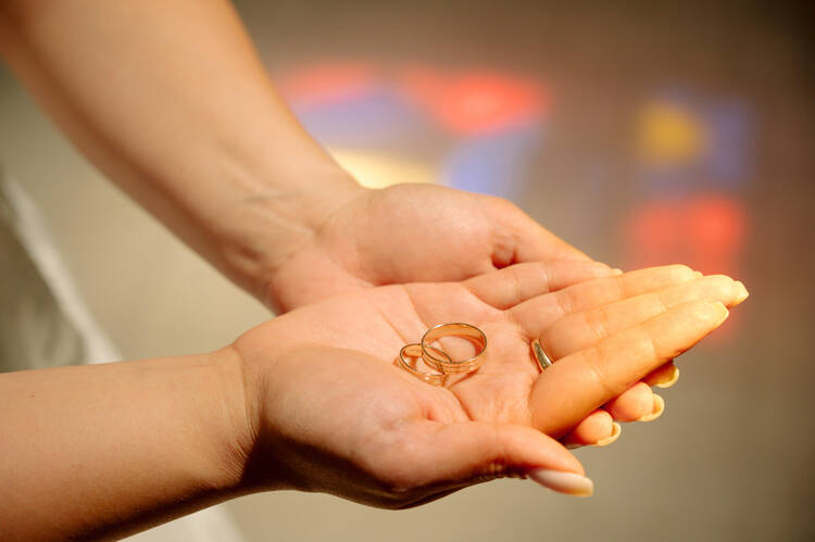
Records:
[[[544,260],[582,260],[591,259],[524,213],[514,203],[501,199],[486,200],[492,206],[492,216],[498,217],[501,237],[509,241],[494,243],[493,264],[497,267]],[[510,250],[507,250],[507,244]]]

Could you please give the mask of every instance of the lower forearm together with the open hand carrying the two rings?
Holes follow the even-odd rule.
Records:
[[[553,437],[691,348],[743,297],[726,277],[655,287],[665,273],[567,286],[568,268],[523,264],[334,297],[211,354],[0,375],[0,431],[15,436],[0,450],[3,537],[116,537],[269,489],[385,508],[507,476],[589,494]],[[617,294],[598,297],[609,289]],[[639,303],[653,295],[660,311]],[[628,327],[581,339],[577,315],[620,306]],[[392,364],[439,320],[471,322],[489,340],[484,365],[444,387]],[[557,325],[564,355],[540,374],[528,341]]]

